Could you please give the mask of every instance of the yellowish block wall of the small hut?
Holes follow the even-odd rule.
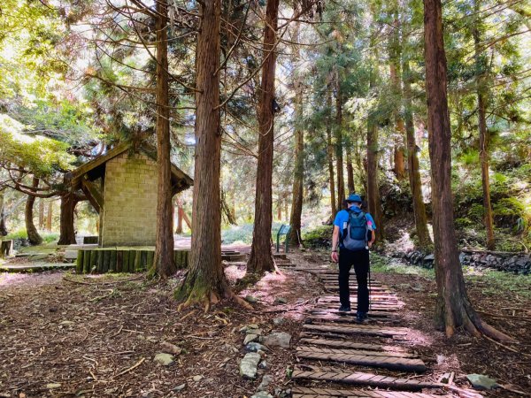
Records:
[[[155,245],[157,164],[143,154],[124,152],[105,167],[100,245]]]

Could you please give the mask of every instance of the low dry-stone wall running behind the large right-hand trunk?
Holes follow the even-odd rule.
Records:
[[[413,250],[408,253],[397,252],[393,256],[404,258],[410,264],[432,268],[434,255],[424,254]],[[489,252],[478,250],[462,250],[459,253],[459,261],[463,265],[471,265],[480,268],[492,268],[498,271],[513,272],[523,275],[531,273],[531,255],[526,253]]]

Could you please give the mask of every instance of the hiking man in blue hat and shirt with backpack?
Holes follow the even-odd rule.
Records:
[[[354,265],[358,280],[358,322],[363,322],[369,311],[369,248],[376,239],[373,217],[361,210],[361,203],[359,195],[351,194],[347,198],[348,209],[339,211],[335,216],[332,236],[332,261],[339,262],[339,310],[350,311],[349,277],[350,267]]]

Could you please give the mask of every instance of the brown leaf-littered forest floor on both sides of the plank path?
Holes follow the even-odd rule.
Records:
[[[327,261],[327,254],[319,252],[289,257],[298,266]],[[523,394],[498,389],[486,396],[531,396],[531,295],[506,279],[481,273],[468,278],[476,308],[519,344],[501,346],[464,333],[447,340],[431,322],[433,276],[415,267],[406,267],[412,274],[404,273],[386,261],[375,258],[373,277],[406,303],[401,315],[408,326],[430,336],[425,348],[416,348],[433,358],[430,371],[455,371],[462,386],[466,374],[486,374]],[[245,268],[241,263],[226,270],[235,283]],[[258,370],[258,378],[242,379],[238,366],[245,334],[240,329],[256,324],[264,334],[287,332],[295,347],[304,311],[323,292],[319,282],[286,268],[241,292],[258,300],[252,311],[220,302],[207,313],[200,308],[179,312],[173,291],[180,276],[162,284],[146,281],[143,274],[0,274],[0,396],[242,397],[256,392],[264,374],[273,378],[272,394],[289,389],[286,374],[296,364],[293,349],[268,350],[266,369]],[[275,302],[279,298],[287,302]],[[273,318],[285,318],[285,323],[273,325]],[[158,353],[168,352],[165,342],[181,349],[169,366],[154,361]]]

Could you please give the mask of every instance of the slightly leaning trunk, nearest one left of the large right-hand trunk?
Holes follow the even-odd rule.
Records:
[[[417,142],[415,142],[415,126],[413,125],[412,113],[412,84],[409,60],[404,59],[402,73],[404,75],[404,119],[405,133],[407,137],[407,163],[409,169],[410,189],[413,198],[413,215],[419,245],[427,248],[431,244],[431,238],[427,230],[426,206],[422,198],[422,181],[420,180],[419,155]]]

